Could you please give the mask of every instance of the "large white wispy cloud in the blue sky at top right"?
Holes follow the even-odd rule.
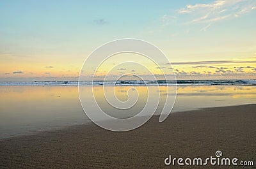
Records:
[[[180,8],[175,13],[163,15],[159,18],[161,25],[158,32],[165,27],[179,24],[205,24],[200,31],[207,31],[214,22],[225,20],[228,18],[240,17],[244,13],[256,9],[255,0],[215,0],[211,3],[187,4],[184,8]],[[182,20],[180,22],[180,20]],[[169,29],[170,30],[170,29]],[[190,29],[186,30],[189,33]],[[177,36],[180,33],[174,33],[170,36]]]

